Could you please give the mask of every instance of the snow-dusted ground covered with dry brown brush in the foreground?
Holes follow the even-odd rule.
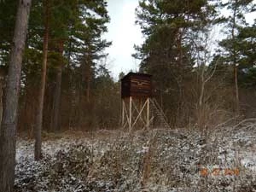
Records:
[[[256,126],[96,131],[18,139],[15,191],[256,192]]]

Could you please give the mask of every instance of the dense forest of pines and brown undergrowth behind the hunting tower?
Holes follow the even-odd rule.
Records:
[[[4,99],[18,3],[0,3]],[[32,136],[38,127],[43,61],[47,63],[43,131],[119,127],[120,81],[114,81],[108,70],[105,49],[111,42],[102,38],[110,22],[107,6],[103,0],[32,2],[18,131]],[[220,16],[224,11],[229,14]],[[256,21],[245,20],[254,11],[255,2],[249,0],[139,2],[137,25],[145,40],[135,45],[133,56],[141,61],[139,72],[154,74],[154,97],[172,127],[208,128],[234,117],[255,116]],[[212,39],[216,27],[218,36],[224,37],[221,41]],[[124,75],[120,73],[119,79]]]

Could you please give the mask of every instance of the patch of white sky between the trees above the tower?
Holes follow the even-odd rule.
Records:
[[[139,61],[131,54],[135,53],[134,44],[143,43],[143,35],[140,27],[135,25],[135,9],[138,0],[108,0],[108,33],[104,35],[112,46],[106,49],[109,53],[108,68],[114,79],[118,79],[119,73],[137,71]]]

